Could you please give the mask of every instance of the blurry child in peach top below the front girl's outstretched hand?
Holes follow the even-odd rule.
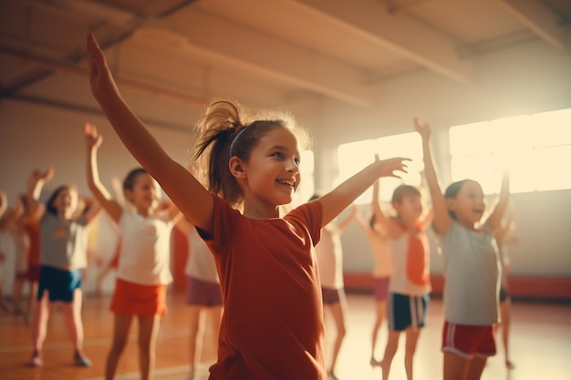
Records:
[[[358,224],[369,238],[372,249],[374,266],[373,266],[373,282],[374,295],[376,303],[375,324],[373,325],[371,339],[370,365],[379,365],[380,362],[375,359],[375,350],[377,348],[377,340],[379,337],[380,326],[387,315],[387,298],[389,296],[389,280],[392,272],[392,264],[390,262],[390,247],[387,231],[377,221],[376,214],[380,210],[379,204],[379,180],[373,185],[373,202],[372,216],[369,221],[365,221],[360,211],[357,212],[356,218]]]

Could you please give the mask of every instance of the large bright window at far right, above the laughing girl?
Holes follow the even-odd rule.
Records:
[[[478,180],[486,194],[500,190],[571,189],[571,109],[501,118],[450,128],[452,180]]]

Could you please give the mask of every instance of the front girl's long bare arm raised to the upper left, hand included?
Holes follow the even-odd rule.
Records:
[[[202,231],[212,233],[212,195],[187,169],[169,157],[123,100],[93,34],[88,35],[87,48],[91,92],[119,139],[187,219]]]

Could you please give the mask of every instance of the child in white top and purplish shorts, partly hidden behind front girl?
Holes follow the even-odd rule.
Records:
[[[309,200],[317,200],[319,196],[313,195]],[[330,358],[327,359],[327,376],[330,380],[337,380],[335,365],[341,349],[343,339],[347,334],[348,305],[343,283],[343,246],[341,234],[355,219],[355,210],[341,221],[331,221],[321,229],[321,240],[316,245],[317,268],[321,281],[321,294],[324,312],[333,317],[336,334],[333,340],[333,349]],[[324,315],[325,317],[325,315]]]

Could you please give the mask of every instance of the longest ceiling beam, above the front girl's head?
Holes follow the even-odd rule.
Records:
[[[189,12],[192,17],[188,12],[180,13],[154,24],[158,35],[168,30],[185,40],[175,53],[208,58],[222,67],[266,77],[286,87],[302,87],[359,108],[370,106],[369,88],[357,69],[200,9]],[[152,29],[151,23],[147,31],[141,29],[139,33],[148,35]],[[145,36],[140,43],[152,40]],[[161,47],[161,38],[154,43]]]

